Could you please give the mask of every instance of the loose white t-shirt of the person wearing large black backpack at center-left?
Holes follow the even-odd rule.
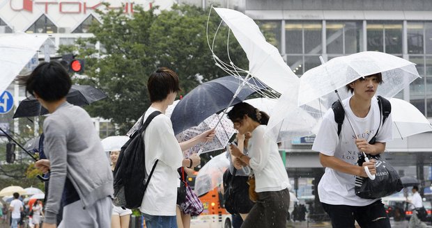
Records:
[[[144,122],[148,115],[157,111],[150,107],[144,115]],[[183,161],[183,154],[169,117],[164,114],[157,115],[144,133],[146,146],[146,171],[150,174],[153,164],[157,162],[143,202],[139,210],[148,215],[176,215],[177,187],[180,185],[180,176],[177,169]]]

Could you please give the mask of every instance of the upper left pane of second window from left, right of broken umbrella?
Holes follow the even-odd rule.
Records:
[[[303,54],[303,25],[301,22],[286,22],[285,40],[287,54]]]

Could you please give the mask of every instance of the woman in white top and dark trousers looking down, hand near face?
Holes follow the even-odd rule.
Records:
[[[254,170],[255,187],[252,190],[258,197],[242,227],[286,227],[291,185],[277,143],[264,136],[269,116],[240,102],[233,106],[228,117],[239,134],[252,133],[247,145],[249,154],[230,145],[231,156],[238,158],[242,166],[249,165]]]

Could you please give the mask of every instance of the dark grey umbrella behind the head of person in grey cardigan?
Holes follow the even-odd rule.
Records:
[[[104,92],[93,86],[72,85],[72,88],[70,88],[66,96],[66,100],[70,104],[83,106],[104,99],[105,97],[107,97],[107,95],[105,95]],[[45,114],[48,114],[48,111],[40,105],[39,101],[34,97],[29,97],[20,102],[13,118],[33,117]]]

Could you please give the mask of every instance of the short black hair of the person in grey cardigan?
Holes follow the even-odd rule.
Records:
[[[72,80],[65,67],[56,61],[40,63],[29,75],[18,76],[17,82],[26,92],[45,101],[59,101],[68,95]]]

